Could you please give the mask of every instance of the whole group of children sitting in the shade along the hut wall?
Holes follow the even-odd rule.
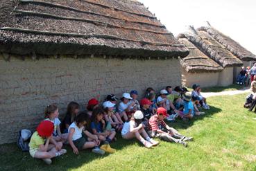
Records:
[[[62,148],[64,143],[69,144],[75,154],[84,149],[92,149],[97,154],[114,153],[116,150],[110,143],[117,141],[117,132],[124,139],[137,138],[148,148],[159,144],[153,140],[155,137],[187,147],[187,141],[193,138],[169,127],[164,119],[188,120],[204,114],[198,107],[209,109],[200,94],[200,86],[194,84],[193,89],[189,93],[185,87],[167,86],[156,98],[155,90],[148,87],[140,101],[138,92],[133,90],[123,93],[118,106],[118,98],[110,94],[102,104],[96,98],[89,100],[87,111],[80,111],[77,102],[70,102],[62,122],[58,119],[58,107],[49,105],[44,111],[45,119],[31,137],[29,152],[33,158],[48,164],[53,157],[67,152]]]

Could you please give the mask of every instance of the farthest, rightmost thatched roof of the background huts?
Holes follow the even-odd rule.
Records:
[[[212,37],[214,37],[214,39],[216,39],[219,43],[225,46],[228,51],[230,51],[233,55],[239,57],[240,60],[256,60],[256,55],[241,46],[238,42],[235,42],[230,37],[221,33],[219,30],[216,30],[216,28],[213,28],[212,26],[207,26],[198,28],[198,30],[203,30],[209,33]]]

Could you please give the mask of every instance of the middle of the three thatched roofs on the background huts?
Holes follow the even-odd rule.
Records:
[[[184,33],[189,42],[193,43],[200,51],[205,53],[223,67],[241,66],[243,62],[232,55],[228,49],[219,44],[211,35],[203,30],[195,30],[190,26],[188,33]],[[178,36],[180,37],[180,35]]]

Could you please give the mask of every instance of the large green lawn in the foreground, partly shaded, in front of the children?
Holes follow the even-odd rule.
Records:
[[[194,136],[189,147],[161,141],[146,149],[135,140],[112,143],[115,154],[98,156],[89,150],[53,159],[52,165],[32,159],[16,144],[0,146],[0,170],[256,170],[256,117],[243,108],[246,94],[208,98],[211,109],[187,123],[169,123]]]

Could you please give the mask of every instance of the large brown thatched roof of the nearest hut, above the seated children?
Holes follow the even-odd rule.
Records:
[[[0,0],[0,52],[185,57],[138,1]]]

